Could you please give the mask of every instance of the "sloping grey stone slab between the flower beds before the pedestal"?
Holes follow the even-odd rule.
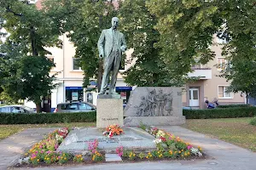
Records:
[[[67,135],[58,150],[68,152],[89,151],[88,145],[95,139],[99,142],[99,150],[105,150],[106,152],[111,152],[118,146],[133,150],[154,150],[156,148],[153,143],[154,137],[145,133],[142,129],[137,127],[123,127],[123,129],[124,134],[113,136],[111,139],[102,135],[102,131],[96,127],[75,129]]]

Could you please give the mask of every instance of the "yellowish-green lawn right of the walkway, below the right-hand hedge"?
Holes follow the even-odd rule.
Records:
[[[190,119],[183,127],[256,152],[256,126],[249,124],[252,119]]]

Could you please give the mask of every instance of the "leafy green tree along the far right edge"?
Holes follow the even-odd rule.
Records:
[[[256,2],[224,2],[220,7],[225,11],[224,28],[219,37],[227,42],[223,55],[230,63],[221,77],[231,81],[229,91],[245,93],[248,103],[249,96],[256,97]]]

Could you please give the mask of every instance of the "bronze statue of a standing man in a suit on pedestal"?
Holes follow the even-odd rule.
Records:
[[[117,75],[119,72],[119,65],[121,62],[122,52],[126,50],[126,42],[124,34],[117,31],[119,19],[112,18],[112,27],[102,31],[101,37],[98,41],[98,49],[100,58],[104,59],[104,72],[102,77],[102,87],[99,94],[105,94],[108,88],[108,79],[112,71],[109,94],[116,94],[114,92]]]

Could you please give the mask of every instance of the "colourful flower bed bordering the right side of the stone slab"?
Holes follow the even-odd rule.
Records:
[[[116,152],[123,157],[124,160],[143,161],[143,160],[161,160],[161,159],[191,159],[204,157],[201,147],[194,147],[192,144],[183,142],[179,137],[175,137],[171,133],[157,127],[145,128],[146,132],[155,137],[154,144],[156,150],[150,152],[136,153],[134,150],[118,149]]]

